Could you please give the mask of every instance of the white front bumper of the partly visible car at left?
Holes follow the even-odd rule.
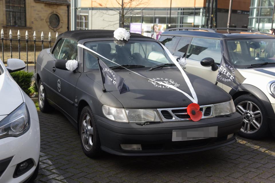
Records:
[[[31,99],[26,101],[28,110],[30,112],[30,129],[21,136],[0,139],[0,166],[1,162],[2,165],[4,165],[5,163],[3,162],[5,160],[9,160],[9,158],[11,159],[8,164],[5,164],[6,167],[0,176],[0,182],[25,182],[32,176],[38,165],[40,152],[40,127],[37,111],[34,111],[36,108],[34,103],[31,102]],[[34,166],[21,176],[13,178],[17,164],[27,159],[32,159]]]

